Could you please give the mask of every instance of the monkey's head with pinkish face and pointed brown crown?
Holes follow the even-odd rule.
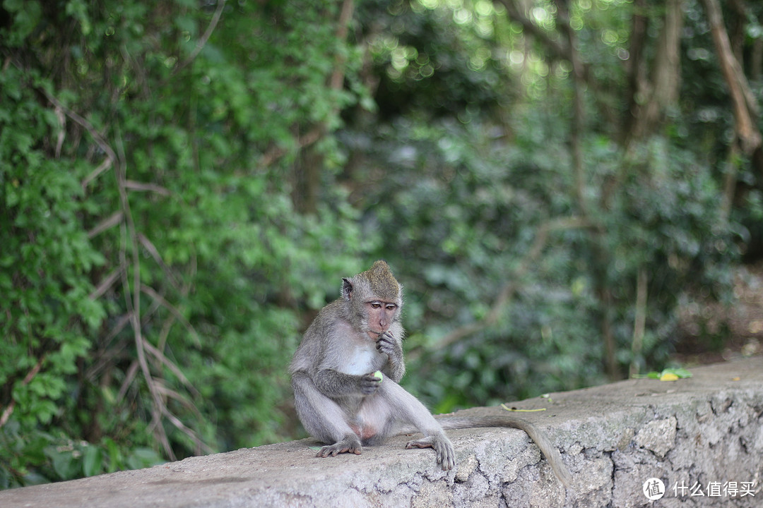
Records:
[[[400,319],[403,286],[379,260],[369,270],[342,280],[342,298],[353,325],[375,339]]]

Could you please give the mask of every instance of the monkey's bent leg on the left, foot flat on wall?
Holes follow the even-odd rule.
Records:
[[[334,443],[321,448],[316,456],[336,456],[340,453],[360,455],[360,439],[347,423],[346,415],[336,402],[315,388],[303,372],[291,376],[295,408],[304,430],[323,443]]]

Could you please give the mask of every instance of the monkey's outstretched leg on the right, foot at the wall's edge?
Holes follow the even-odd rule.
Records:
[[[382,383],[382,387],[385,388],[384,395],[393,405],[398,420],[413,425],[424,435],[423,439],[409,441],[405,448],[433,448],[437,463],[443,467],[443,470],[452,469],[456,465],[456,451],[448,436],[445,435],[443,427],[434,419],[427,407],[395,382],[388,382],[386,386]]]

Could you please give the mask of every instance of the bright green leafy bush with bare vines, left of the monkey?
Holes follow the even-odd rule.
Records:
[[[0,27],[2,486],[285,439],[301,314],[361,267],[291,172],[363,93],[338,11],[64,4]]]

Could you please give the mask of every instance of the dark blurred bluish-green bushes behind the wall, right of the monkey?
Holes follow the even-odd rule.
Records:
[[[581,227],[571,220],[579,219],[571,171],[559,164],[570,160],[568,149],[549,142],[556,127],[544,133],[533,117],[515,122],[534,129],[516,129],[510,148],[486,133],[494,127],[473,122],[398,125],[400,138],[369,143],[376,164],[406,168],[368,190],[376,203],[369,225],[382,235],[378,254],[403,268],[402,280],[414,280],[407,284],[408,326],[417,331],[414,358],[427,356],[414,359],[405,382],[439,411],[602,382],[604,351],[591,337],[601,334],[604,312],[620,362],[665,363],[678,299],[700,288],[723,296],[731,282],[734,230],[720,219],[710,168],[691,152],[656,140],[629,162],[611,140],[587,139],[591,181],[625,178],[607,209],[597,209],[598,225]],[[591,185],[587,194],[604,202],[597,193],[606,190]],[[542,255],[530,257],[539,231],[553,224],[565,226],[549,232]],[[529,267],[520,268],[523,260]],[[627,352],[642,269],[649,332],[643,356],[633,358]],[[513,299],[497,322],[449,345],[447,332],[485,319],[507,285]],[[610,305],[600,300],[600,285]]]

